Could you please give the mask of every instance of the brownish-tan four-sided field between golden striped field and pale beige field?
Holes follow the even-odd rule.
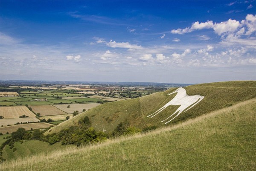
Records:
[[[35,113],[40,113],[41,116],[63,115],[67,114],[52,105],[30,106]]]

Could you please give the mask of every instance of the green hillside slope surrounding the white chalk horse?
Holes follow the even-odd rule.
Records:
[[[172,122],[169,122],[168,125],[195,118],[202,114],[256,97],[256,81],[228,81],[196,84],[185,87],[185,89],[188,95],[201,95],[205,96],[205,98],[195,105],[195,107],[181,113],[180,116]],[[170,116],[179,106],[171,105],[154,118],[148,118],[146,116],[154,113],[170,101],[176,94],[168,95],[168,93],[172,93],[174,90],[176,90],[176,88],[170,88],[165,92],[158,92],[137,99],[102,104],[59,124],[46,134],[57,133],[62,129],[77,125],[79,119],[84,118],[84,116],[89,117],[92,126],[96,128],[96,130],[104,130],[107,133],[112,132],[120,122],[140,129],[152,125],[166,126],[160,121]]]

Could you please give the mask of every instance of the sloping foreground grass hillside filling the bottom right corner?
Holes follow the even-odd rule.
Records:
[[[256,99],[151,133],[4,162],[3,171],[256,170]]]

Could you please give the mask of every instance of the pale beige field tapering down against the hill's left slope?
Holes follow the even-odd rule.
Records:
[[[68,105],[70,105],[70,108],[67,108]],[[76,110],[78,110],[79,113],[81,113],[83,109],[86,109],[87,111],[88,109],[91,109],[99,105],[100,103],[86,103],[86,104],[57,104],[54,106],[67,113],[73,113]]]

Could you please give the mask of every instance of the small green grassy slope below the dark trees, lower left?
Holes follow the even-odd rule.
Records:
[[[14,144],[16,151],[13,151],[13,148],[10,149],[9,146],[6,146],[3,149],[3,158],[10,160],[16,159],[17,157],[26,157],[31,156],[33,154],[40,154],[49,151],[55,151],[57,149],[67,148],[67,145],[61,145],[61,143],[55,143],[54,145],[49,145],[47,142],[39,141],[39,140],[29,140],[23,141],[23,143],[15,142]],[[71,146],[71,145],[69,145]]]

